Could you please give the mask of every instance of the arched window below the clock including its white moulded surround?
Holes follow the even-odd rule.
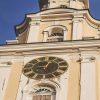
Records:
[[[21,90],[20,100],[58,100],[60,90],[60,85],[53,80],[29,81]]]

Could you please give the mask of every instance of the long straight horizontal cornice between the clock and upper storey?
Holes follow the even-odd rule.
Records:
[[[100,40],[64,41],[50,43],[27,43],[0,46],[0,55],[27,55],[43,53],[78,53],[81,51],[98,51]]]

